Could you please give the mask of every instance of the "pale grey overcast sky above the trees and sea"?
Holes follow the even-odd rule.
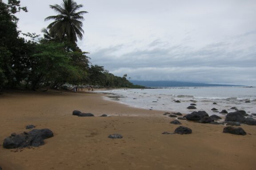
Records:
[[[132,80],[256,85],[256,0],[76,0],[93,65]],[[19,29],[47,27],[49,4],[21,0]]]

